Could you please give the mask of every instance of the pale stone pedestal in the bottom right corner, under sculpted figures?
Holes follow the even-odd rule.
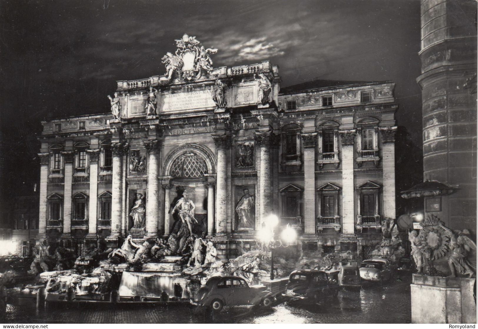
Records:
[[[475,280],[413,274],[412,323],[476,323]]]

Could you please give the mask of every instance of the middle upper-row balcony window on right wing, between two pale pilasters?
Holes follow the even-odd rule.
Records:
[[[318,156],[317,164],[322,169],[326,164],[334,164],[338,168],[338,123],[327,121],[317,127],[318,132]]]

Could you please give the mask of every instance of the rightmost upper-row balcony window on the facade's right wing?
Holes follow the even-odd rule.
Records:
[[[375,118],[364,118],[357,123],[357,166],[361,167],[363,162],[373,161],[378,167],[380,163],[380,152],[378,147],[379,121]]]

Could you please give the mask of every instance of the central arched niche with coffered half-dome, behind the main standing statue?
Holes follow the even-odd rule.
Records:
[[[181,221],[177,215],[171,213],[176,203],[183,197],[184,192],[188,193],[195,206],[196,220],[194,233],[200,234],[207,230],[207,189],[208,174],[216,173],[214,154],[210,149],[199,144],[184,144],[173,149],[166,156],[163,167],[163,176],[169,176],[171,189],[165,190],[169,193],[169,220],[171,230],[169,233],[177,233],[181,227]],[[167,205],[165,205],[167,207]]]

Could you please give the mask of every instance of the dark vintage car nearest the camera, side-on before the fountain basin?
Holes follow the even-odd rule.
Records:
[[[240,276],[214,276],[199,289],[193,304],[220,311],[228,305],[270,307],[273,300],[266,287],[249,286]]]

